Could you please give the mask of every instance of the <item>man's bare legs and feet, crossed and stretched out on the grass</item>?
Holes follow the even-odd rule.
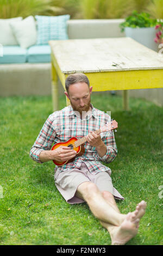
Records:
[[[145,214],[146,203],[142,201],[134,212],[120,213],[114,197],[109,192],[101,193],[95,184],[84,182],[76,196],[84,199],[92,213],[101,221],[111,236],[112,245],[124,245],[137,234],[140,218]]]

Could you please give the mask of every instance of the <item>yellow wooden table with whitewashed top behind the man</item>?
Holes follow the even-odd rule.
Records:
[[[59,109],[58,77],[65,88],[69,74],[87,75],[94,92],[123,90],[128,109],[131,89],[163,88],[163,54],[131,38],[49,41],[52,59],[53,109]],[[66,97],[67,105],[70,104]]]

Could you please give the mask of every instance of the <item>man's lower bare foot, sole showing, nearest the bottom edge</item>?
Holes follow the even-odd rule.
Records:
[[[120,227],[110,230],[111,245],[125,245],[137,234],[139,221],[139,218],[133,220],[132,213],[129,212]]]

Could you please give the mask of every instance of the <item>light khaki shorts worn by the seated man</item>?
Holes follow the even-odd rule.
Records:
[[[57,170],[54,174],[54,181],[57,189],[62,197],[69,204],[84,203],[83,199],[75,196],[77,188],[85,181],[91,181],[97,185],[98,189],[102,191],[109,191],[115,199],[124,199],[121,194],[113,187],[112,180],[108,172],[99,172],[91,174],[86,164],[83,162],[80,169],[65,170],[59,173]]]

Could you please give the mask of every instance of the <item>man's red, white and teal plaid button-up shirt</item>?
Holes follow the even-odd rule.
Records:
[[[66,142],[72,137],[80,139],[88,135],[90,131],[98,130],[108,121],[110,121],[110,116],[93,106],[92,112],[90,112],[85,119],[81,119],[76,115],[71,106],[56,111],[49,115],[43,125],[39,136],[30,150],[30,157],[36,162],[41,163],[39,160],[41,151],[51,150],[53,143]],[[108,171],[109,174],[111,174],[110,168],[104,166],[101,161],[106,163],[112,162],[117,155],[114,132],[102,132],[101,138],[107,148],[106,154],[103,157],[98,155],[95,147],[92,147],[86,142],[84,144],[84,155],[77,155],[73,162],[66,163],[61,167],[56,166],[55,170],[56,168],[59,168],[59,172],[63,172],[72,168],[79,169],[82,162],[84,162],[92,174],[105,171]]]

